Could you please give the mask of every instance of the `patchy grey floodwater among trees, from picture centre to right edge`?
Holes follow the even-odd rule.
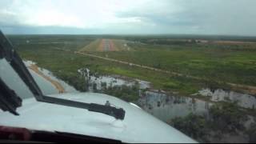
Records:
[[[150,82],[141,81],[138,79],[123,79],[113,76],[98,76],[90,74],[89,69],[80,69],[78,72],[90,80],[90,83],[97,85],[97,90],[101,90],[101,83],[106,82],[106,86],[134,86],[135,82],[139,83],[140,93],[138,99],[138,106],[142,107],[148,113],[154,115],[162,121],[169,121],[172,118],[184,117],[187,114],[199,114],[207,116],[209,108],[214,102],[238,102],[238,106],[244,108],[254,108],[256,106],[256,98],[249,94],[240,94],[234,91],[226,90],[210,90],[202,89],[197,94],[202,96],[211,97],[212,102],[206,102],[198,98],[178,96],[175,94],[167,95],[164,92],[153,90],[150,87]],[[142,90],[148,89],[146,92]],[[92,86],[89,88],[92,90]]]

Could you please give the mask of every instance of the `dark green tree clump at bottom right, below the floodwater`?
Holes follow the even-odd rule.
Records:
[[[208,138],[220,140],[224,134],[254,134],[251,130],[246,132],[246,120],[247,115],[235,103],[225,102],[211,106],[208,117],[189,114],[184,118],[174,118],[169,123],[198,142],[210,142]]]

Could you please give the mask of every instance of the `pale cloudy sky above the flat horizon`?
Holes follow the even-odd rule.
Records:
[[[256,0],[0,0],[5,34],[256,36]]]

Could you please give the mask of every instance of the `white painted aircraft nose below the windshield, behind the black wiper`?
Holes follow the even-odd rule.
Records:
[[[18,108],[20,116],[0,110],[0,125],[86,134],[122,142],[195,142],[142,109],[106,94],[76,93],[51,96],[98,104],[105,104],[108,100],[126,110],[126,117],[120,121],[106,114],[26,98],[22,102],[23,106]]]

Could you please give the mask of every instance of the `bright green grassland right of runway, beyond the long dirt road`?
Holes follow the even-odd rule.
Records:
[[[256,44],[150,45],[130,43],[133,51],[104,52],[126,62],[152,66],[214,82],[256,86]]]

